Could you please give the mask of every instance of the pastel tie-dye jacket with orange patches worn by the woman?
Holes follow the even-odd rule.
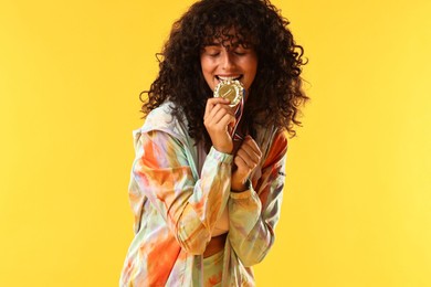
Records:
[[[187,124],[171,116],[170,104],[154,109],[134,131],[136,159],[129,183],[135,238],[120,286],[203,286],[202,254],[224,208],[229,233],[222,286],[254,286],[251,266],[274,242],[285,180],[287,140],[275,129],[257,130],[262,161],[251,188],[230,190],[233,156],[188,136]]]

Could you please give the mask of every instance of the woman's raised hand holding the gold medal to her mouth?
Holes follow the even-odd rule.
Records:
[[[229,99],[212,97],[207,102],[203,125],[210,135],[212,146],[220,152],[232,153],[233,141],[230,129],[235,124],[235,115]]]

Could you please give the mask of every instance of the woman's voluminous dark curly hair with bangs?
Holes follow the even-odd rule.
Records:
[[[212,91],[203,78],[202,49],[214,39],[223,45],[241,44],[254,49],[257,71],[244,108],[245,129],[253,136],[257,126],[273,125],[294,137],[299,107],[308,99],[302,91],[302,56],[290,22],[269,0],[200,0],[174,23],[161,59],[159,74],[149,91],[140,94],[141,111],[170,100],[174,115],[186,116],[189,136],[197,142],[210,139],[203,126],[206,103]],[[229,31],[235,35],[229,35]],[[228,42],[228,43],[227,43]],[[148,94],[148,99],[143,95]]]

